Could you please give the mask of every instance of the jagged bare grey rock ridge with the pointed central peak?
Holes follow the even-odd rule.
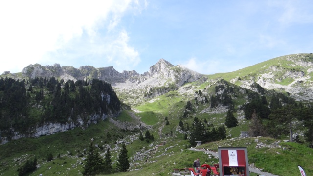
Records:
[[[160,59],[155,65],[151,66],[148,72],[139,74],[136,71],[126,71],[122,73],[116,71],[113,66],[95,68],[93,66],[81,66],[74,68],[72,66],[41,66],[40,64],[29,65],[22,70],[24,76],[30,78],[36,77],[60,77],[64,80],[92,80],[93,78],[106,81],[108,83],[142,83],[150,78],[170,79],[177,86],[186,82],[193,82],[201,78],[202,75],[182,66],[174,66],[164,59]]]

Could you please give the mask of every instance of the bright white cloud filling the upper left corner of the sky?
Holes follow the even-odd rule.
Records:
[[[78,52],[74,42],[82,39],[99,48],[97,44],[102,43],[95,41],[103,37],[100,30],[112,31],[128,9],[135,9],[131,6],[136,6],[136,3],[131,0],[1,1],[0,74],[5,70],[19,72],[29,64],[47,62],[44,59],[49,57],[49,53],[57,52],[54,56],[67,53],[68,48]],[[139,54],[128,46],[124,30],[112,36],[116,37],[112,39],[115,41],[115,47],[112,46],[115,53],[125,53],[124,57],[130,56],[133,61],[138,58]],[[113,58],[116,54],[109,55]],[[49,58],[54,60],[51,56]],[[118,63],[117,59],[114,60]]]

